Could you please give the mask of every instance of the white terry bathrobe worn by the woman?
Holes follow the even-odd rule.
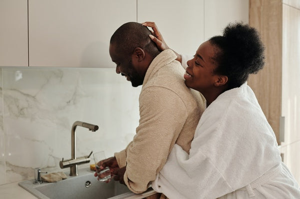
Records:
[[[246,83],[207,107],[189,155],[175,145],[152,188],[169,199],[300,199],[273,130]]]

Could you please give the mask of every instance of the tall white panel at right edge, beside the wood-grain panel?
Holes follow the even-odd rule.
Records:
[[[283,162],[300,182],[300,2],[283,0],[282,106],[285,118]]]

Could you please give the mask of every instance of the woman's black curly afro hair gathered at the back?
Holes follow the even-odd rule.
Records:
[[[228,77],[228,89],[239,87],[249,74],[263,68],[263,43],[257,30],[248,24],[230,23],[222,36],[214,36],[209,41],[218,49],[214,73]]]

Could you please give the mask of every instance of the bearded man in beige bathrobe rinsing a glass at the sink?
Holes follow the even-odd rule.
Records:
[[[160,52],[149,34],[147,27],[128,22],[111,36],[109,54],[116,73],[133,87],[142,85],[140,119],[126,149],[97,164],[100,169],[108,166],[114,179],[136,194],[155,180],[175,143],[188,153],[205,107],[202,96],[185,86],[184,69],[174,52]]]

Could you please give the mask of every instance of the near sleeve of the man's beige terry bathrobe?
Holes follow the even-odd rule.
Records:
[[[163,87],[148,87],[139,98],[140,120],[136,135],[127,147],[124,182],[139,194],[166,162],[187,118],[181,98]]]

